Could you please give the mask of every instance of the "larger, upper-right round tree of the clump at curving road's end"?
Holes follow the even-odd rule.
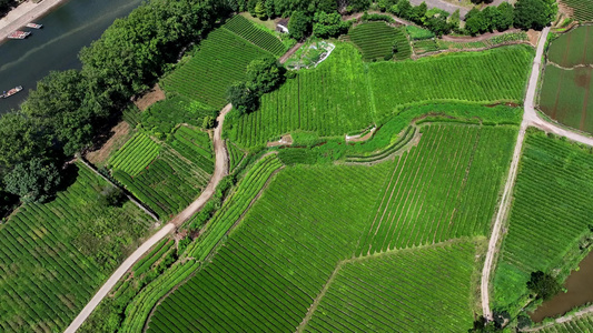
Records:
[[[247,85],[259,95],[280,85],[283,78],[281,68],[273,57],[256,59],[247,65]]]

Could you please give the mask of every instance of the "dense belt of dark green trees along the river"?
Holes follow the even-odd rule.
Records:
[[[80,52],[82,70],[50,73],[20,110],[0,118],[1,190],[23,202],[50,198],[60,165],[230,12],[219,0],[150,0],[116,20]]]

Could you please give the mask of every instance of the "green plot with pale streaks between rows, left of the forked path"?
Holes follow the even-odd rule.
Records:
[[[487,234],[516,128],[431,125],[395,160],[357,255]]]

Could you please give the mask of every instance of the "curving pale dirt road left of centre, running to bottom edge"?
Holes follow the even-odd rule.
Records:
[[[200,196],[196,199],[189,206],[175,216],[167,225],[162,226],[156,234],[154,234],[148,241],[146,241],[140,248],[138,248],[126,261],[116,270],[116,272],[107,280],[107,282],[99,289],[90,302],[82,309],[78,316],[72,321],[70,326],[66,329],[66,333],[75,333],[80,325],[89,317],[92,311],[101,303],[102,299],[107,296],[109,291],[116,285],[116,283],[123,278],[123,275],[134,266],[134,264],[142,258],[142,255],[150,250],[160,240],[166,238],[170,232],[175,231],[184,222],[189,220],[196,214],[216,191],[216,186],[228,174],[228,153],[223,141],[223,123],[225,115],[231,110],[231,105],[226,105],[217,118],[218,125],[214,130],[214,150],[216,155],[215,170],[210,182],[206,189],[201,192]]]

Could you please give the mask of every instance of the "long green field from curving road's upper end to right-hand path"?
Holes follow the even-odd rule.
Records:
[[[225,133],[241,148],[261,147],[279,135],[316,132],[344,135],[401,110],[431,101],[523,100],[533,49],[524,46],[456,53],[418,61],[365,64],[357,50],[337,43],[313,70],[265,94],[259,110],[225,122]]]

